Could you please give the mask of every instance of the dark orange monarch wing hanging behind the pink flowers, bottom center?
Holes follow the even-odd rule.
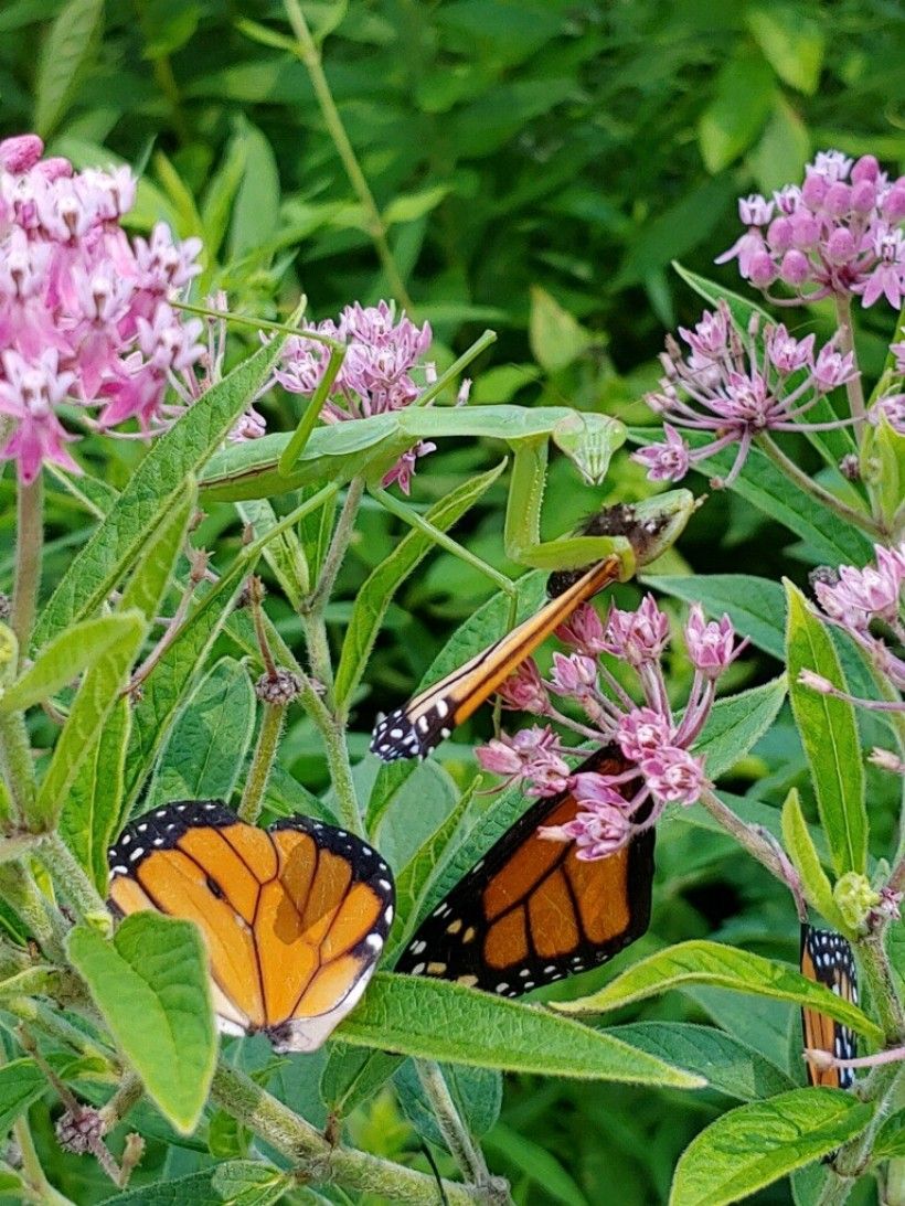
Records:
[[[618,774],[627,765],[608,745],[577,773]],[[577,810],[570,791],[529,808],[421,924],[396,971],[520,996],[602,964],[640,938],[650,920],[654,831],[585,862],[574,843],[537,833],[538,825],[564,825]]]

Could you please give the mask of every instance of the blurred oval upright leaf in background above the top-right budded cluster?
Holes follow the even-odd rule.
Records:
[[[697,123],[697,145],[707,171],[723,171],[754,144],[773,93],[770,68],[747,47],[724,64],[713,100]]]

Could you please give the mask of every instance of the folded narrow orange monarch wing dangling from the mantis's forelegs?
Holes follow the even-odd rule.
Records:
[[[584,602],[618,580],[618,557],[592,566],[561,595],[475,657],[414,696],[374,727],[372,753],[385,762],[425,757],[472,715],[521,662]]]

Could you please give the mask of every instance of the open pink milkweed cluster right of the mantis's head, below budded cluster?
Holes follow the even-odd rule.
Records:
[[[660,388],[644,399],[664,418],[666,441],[632,455],[653,481],[679,481],[699,461],[737,445],[731,470],[713,482],[730,486],[758,435],[851,422],[805,421],[822,398],[858,376],[853,355],[840,351],[836,336],[818,349],[813,335],[794,339],[782,323],[765,323],[761,333],[757,315],[742,335],[723,302],[705,311],[694,330],[679,327],[679,335],[685,349],[667,336]],[[713,438],[691,449],[678,428]]]

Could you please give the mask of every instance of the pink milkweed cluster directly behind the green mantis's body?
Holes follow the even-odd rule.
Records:
[[[362,306],[357,302],[343,310],[338,322],[319,323],[314,332],[345,344],[345,357],[321,409],[326,423],[367,418],[402,410],[416,403],[424,392],[413,376],[416,369],[430,384],[433,365],[424,357],[433,334],[430,323],[416,327],[404,314],[396,318],[393,306],[381,302]],[[275,380],[290,393],[310,397],[323,380],[331,349],[306,335],[286,340]],[[465,397],[460,397],[463,402]],[[415,461],[433,452],[436,444],[421,440],[399,457],[384,478],[387,486],[396,481],[408,493]]]

